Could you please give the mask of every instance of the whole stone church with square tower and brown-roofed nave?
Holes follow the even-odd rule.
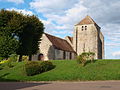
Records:
[[[73,37],[66,36],[65,39],[62,39],[44,33],[41,38],[39,53],[34,55],[33,59],[75,59],[77,55],[83,52],[94,52],[95,59],[102,59],[104,58],[104,36],[100,29],[90,16],[86,16],[74,26]]]

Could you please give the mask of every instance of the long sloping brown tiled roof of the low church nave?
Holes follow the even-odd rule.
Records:
[[[71,45],[66,40],[47,34],[47,33],[45,33],[45,35],[51,41],[51,43],[55,48],[64,50],[64,51],[75,52],[71,47]]]

